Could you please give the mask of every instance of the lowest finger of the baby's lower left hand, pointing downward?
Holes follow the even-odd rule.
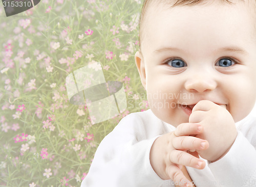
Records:
[[[167,168],[167,175],[175,182],[175,184],[179,186],[192,187],[191,182],[189,182],[189,180],[185,177],[185,175],[178,166],[169,166]]]

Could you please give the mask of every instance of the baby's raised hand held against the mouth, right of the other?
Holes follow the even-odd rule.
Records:
[[[236,125],[226,105],[218,105],[209,100],[199,101],[189,116],[190,123],[199,123],[204,127],[197,138],[207,140],[209,148],[197,151],[208,161],[217,161],[224,156],[237,137]]]

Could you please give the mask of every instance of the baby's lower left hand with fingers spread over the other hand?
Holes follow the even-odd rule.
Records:
[[[200,129],[201,127],[201,129]],[[150,163],[154,171],[164,180],[172,179],[180,186],[192,186],[181,171],[182,166],[203,169],[205,162],[198,153],[187,150],[205,150],[208,142],[189,135],[200,135],[203,127],[194,123],[182,123],[173,132],[157,138],[150,151]]]

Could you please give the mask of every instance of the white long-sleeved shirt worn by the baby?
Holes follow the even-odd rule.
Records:
[[[256,186],[256,104],[236,123],[238,136],[228,153],[206,167],[186,167],[197,187]],[[157,118],[151,109],[131,113],[120,120],[98,146],[81,187],[175,186],[161,179],[150,164],[150,150],[159,136],[176,127]]]

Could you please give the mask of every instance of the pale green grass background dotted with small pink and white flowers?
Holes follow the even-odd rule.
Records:
[[[41,0],[10,17],[0,7],[0,186],[80,186],[101,140],[127,114],[148,109],[134,61],[141,7]],[[68,74],[93,62],[127,99],[123,113],[97,124],[66,89]]]

